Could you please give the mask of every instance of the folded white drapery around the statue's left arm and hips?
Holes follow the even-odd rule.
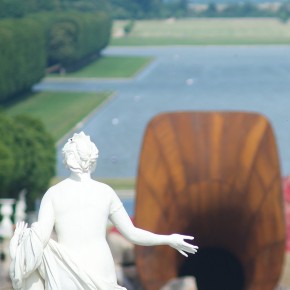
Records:
[[[66,249],[50,239],[45,248],[38,223],[19,236],[10,277],[16,290],[126,290],[102,277],[87,274]],[[15,237],[18,238],[18,237]]]

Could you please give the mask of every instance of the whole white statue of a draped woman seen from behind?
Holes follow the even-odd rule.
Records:
[[[63,148],[69,178],[44,195],[38,221],[27,228],[17,224],[10,242],[10,277],[14,289],[125,289],[117,284],[113,258],[106,241],[110,220],[132,243],[169,245],[187,256],[197,246],[191,236],[157,235],[136,228],[111,187],[91,179],[98,149],[83,132]],[[55,227],[58,242],[50,239]]]

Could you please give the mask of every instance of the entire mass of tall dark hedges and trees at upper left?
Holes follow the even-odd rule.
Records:
[[[97,55],[112,25],[101,2],[0,0],[0,102],[30,90],[48,66]]]

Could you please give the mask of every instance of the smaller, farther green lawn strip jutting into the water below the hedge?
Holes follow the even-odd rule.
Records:
[[[68,78],[130,78],[143,69],[151,57],[106,56],[72,73],[61,75]],[[50,77],[60,75],[51,74]]]

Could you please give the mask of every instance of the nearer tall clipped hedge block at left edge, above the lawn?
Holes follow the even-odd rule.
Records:
[[[27,91],[43,76],[43,28],[32,19],[0,21],[0,101]]]

